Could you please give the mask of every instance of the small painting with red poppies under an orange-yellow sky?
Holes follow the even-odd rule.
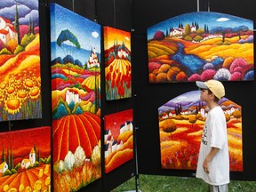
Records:
[[[103,28],[107,100],[132,97],[131,33]]]

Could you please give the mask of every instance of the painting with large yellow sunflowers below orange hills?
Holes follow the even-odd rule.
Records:
[[[37,0],[0,4],[0,122],[42,117]]]

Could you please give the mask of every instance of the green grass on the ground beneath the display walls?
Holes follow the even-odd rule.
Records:
[[[184,178],[159,175],[140,175],[141,192],[205,192],[208,189],[203,180],[197,178]],[[135,179],[125,181],[111,192],[135,191]],[[256,191],[256,181],[231,180],[228,184],[228,192],[252,192]]]

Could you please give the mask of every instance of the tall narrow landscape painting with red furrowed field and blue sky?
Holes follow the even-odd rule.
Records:
[[[99,24],[51,4],[53,189],[101,177]]]

